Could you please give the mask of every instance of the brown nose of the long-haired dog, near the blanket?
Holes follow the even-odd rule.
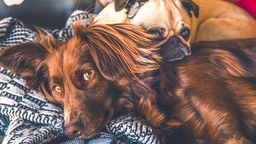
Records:
[[[77,138],[82,135],[81,126],[76,123],[67,125],[65,126],[64,134],[70,139]]]

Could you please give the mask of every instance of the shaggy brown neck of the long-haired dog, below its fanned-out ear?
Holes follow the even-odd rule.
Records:
[[[137,110],[135,113],[145,117],[155,128],[164,125],[165,119],[168,119],[164,113],[171,113],[172,103],[177,100],[174,90],[180,84],[175,65],[161,62],[160,66],[155,72],[137,75],[140,81],[123,78],[115,82],[125,103],[125,111],[121,108],[119,114]]]

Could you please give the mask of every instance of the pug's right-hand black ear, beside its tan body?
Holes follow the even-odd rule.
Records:
[[[187,10],[187,13],[191,16],[191,11],[193,11],[196,18],[199,16],[199,6],[192,0],[180,0],[183,7]]]

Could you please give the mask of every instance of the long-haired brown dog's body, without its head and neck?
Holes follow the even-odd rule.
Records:
[[[161,68],[164,104],[174,104],[167,125],[210,143],[256,142],[256,39],[197,43]]]

